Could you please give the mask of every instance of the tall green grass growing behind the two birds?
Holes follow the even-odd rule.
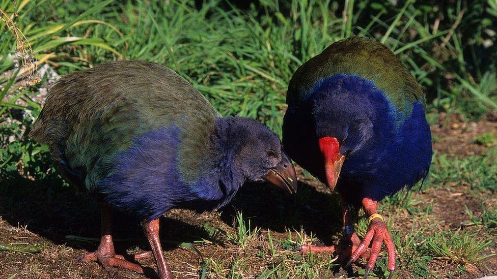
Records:
[[[3,0],[0,7],[8,15],[17,12],[13,23],[25,40],[0,25],[4,57],[0,73],[16,63],[16,56],[10,54],[19,40],[24,47],[31,45],[25,52],[33,55],[32,63],[48,60],[61,74],[120,58],[155,61],[187,78],[222,114],[256,117],[280,132],[284,92],[296,68],[330,43],[356,34],[375,37],[394,50],[435,98],[434,108],[481,115],[496,107],[497,82],[491,74],[495,67],[481,65],[472,56],[476,47],[472,40],[478,41],[483,28],[492,27],[480,25],[494,20],[493,7],[473,7],[470,13],[466,10],[471,7],[458,2],[443,12],[447,20],[433,29],[435,8],[409,1],[398,7],[348,2],[354,5],[348,5],[343,15],[338,3],[314,0],[288,5],[266,0],[244,10],[222,1],[210,1],[200,9],[188,1],[169,5],[89,1],[69,10],[56,8],[59,2],[27,1],[20,7]],[[39,18],[42,10],[56,14],[58,21]],[[459,29],[453,30],[455,25]],[[474,26],[473,36],[462,36]],[[439,45],[444,48],[433,53]],[[437,55],[441,57],[433,58]],[[442,84],[449,82],[445,78],[449,73],[455,78]],[[464,98],[468,100],[460,102]],[[7,103],[12,106],[11,100]],[[31,104],[23,107],[39,109]]]

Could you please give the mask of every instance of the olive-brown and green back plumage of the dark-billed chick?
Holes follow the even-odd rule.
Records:
[[[176,125],[182,131],[179,169],[190,182],[200,173],[217,117],[200,92],[171,69],[116,61],[54,84],[30,135],[49,145],[56,162],[65,159],[90,173],[100,158],[127,148],[134,137]]]

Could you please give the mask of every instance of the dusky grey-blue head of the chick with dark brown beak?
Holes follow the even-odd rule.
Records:
[[[259,121],[244,117],[223,117],[216,122],[215,141],[229,153],[234,171],[249,181],[267,180],[295,193],[297,176],[280,139]]]

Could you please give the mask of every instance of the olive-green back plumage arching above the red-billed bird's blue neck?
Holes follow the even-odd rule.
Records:
[[[410,114],[414,102],[425,106],[423,91],[399,58],[380,42],[361,37],[336,42],[300,66],[288,86],[288,106],[299,107],[316,82],[336,74],[373,81],[400,113]]]

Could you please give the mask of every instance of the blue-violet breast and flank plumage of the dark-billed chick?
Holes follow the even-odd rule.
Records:
[[[112,206],[146,220],[171,208],[206,211],[228,203],[235,193],[219,184],[215,171],[206,170],[196,183],[184,182],[178,171],[180,139],[176,126],[134,138],[129,148],[97,163],[100,170],[107,168],[107,175],[95,182],[94,191]]]

